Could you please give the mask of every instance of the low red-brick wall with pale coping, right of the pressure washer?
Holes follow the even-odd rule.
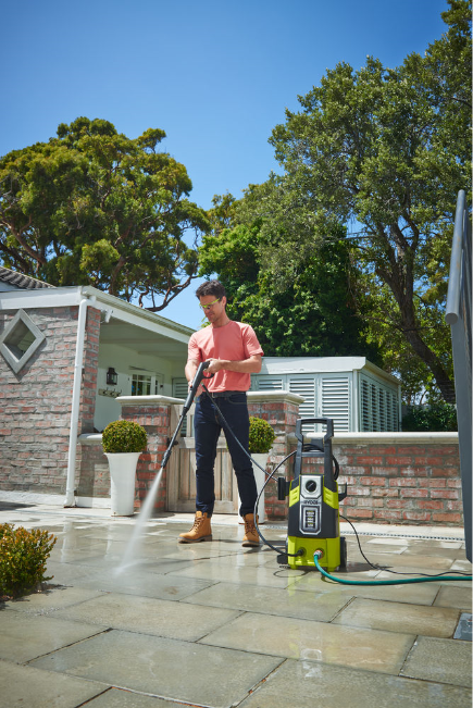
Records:
[[[376,436],[383,434],[334,438],[340,482],[348,484],[344,516],[374,523],[462,525],[457,434]]]

